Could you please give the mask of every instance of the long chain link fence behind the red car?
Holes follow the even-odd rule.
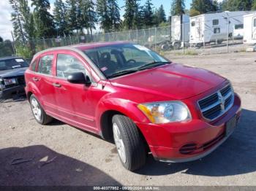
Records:
[[[239,18],[239,19],[238,19]],[[72,35],[53,39],[32,39],[21,42],[0,43],[0,56],[21,55],[32,58],[34,53],[50,47],[61,47],[89,42],[129,41],[146,46],[161,54],[200,55],[223,52],[244,52],[243,17],[192,17],[190,23],[118,31],[106,34]],[[236,21],[236,22],[235,22]]]

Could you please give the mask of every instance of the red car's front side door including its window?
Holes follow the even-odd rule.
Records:
[[[72,125],[90,131],[96,131],[94,109],[96,106],[91,101],[91,89],[81,84],[71,84],[67,77],[75,72],[90,75],[90,69],[75,52],[59,51],[56,58],[56,103],[59,118]]]

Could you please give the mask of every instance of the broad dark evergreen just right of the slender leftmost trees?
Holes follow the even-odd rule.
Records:
[[[34,6],[34,23],[37,37],[50,38],[55,35],[53,16],[50,15],[50,3],[48,0],[31,0]]]

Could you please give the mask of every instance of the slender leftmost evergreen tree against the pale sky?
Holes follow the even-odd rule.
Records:
[[[19,0],[10,0],[10,4],[12,6],[13,12],[12,16],[12,26],[13,26],[13,33],[16,40],[25,43],[26,36],[23,31],[23,16],[20,12],[20,1]]]

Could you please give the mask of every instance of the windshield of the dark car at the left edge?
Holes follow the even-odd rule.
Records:
[[[9,70],[29,67],[29,64],[26,63],[22,58],[13,58],[8,60],[0,61],[0,70]]]

